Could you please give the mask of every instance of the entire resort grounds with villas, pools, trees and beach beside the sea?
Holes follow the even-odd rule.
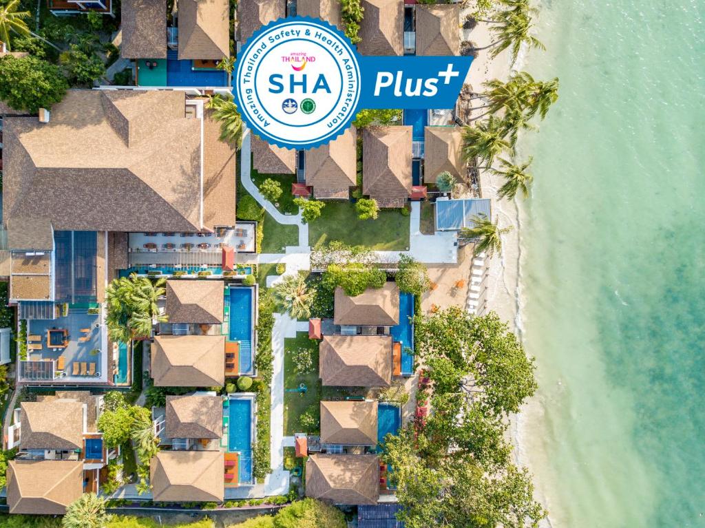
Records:
[[[517,137],[558,98],[503,66],[535,14],[0,0],[0,525],[537,526],[534,360],[493,301]],[[288,24],[320,39],[255,54],[253,123],[240,58]],[[368,108],[340,50],[447,64],[444,99]]]

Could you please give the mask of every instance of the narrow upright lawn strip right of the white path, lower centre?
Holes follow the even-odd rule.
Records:
[[[313,369],[305,376],[300,376],[294,369],[292,350],[310,348],[313,350]],[[311,405],[321,401],[321,380],[318,374],[318,341],[308,338],[305,332],[299,332],[295,338],[284,340],[284,436],[304,432],[299,425],[299,417]],[[288,388],[297,388],[301,383],[307,387],[306,393],[289,393]]]

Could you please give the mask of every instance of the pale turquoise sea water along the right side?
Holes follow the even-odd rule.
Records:
[[[553,527],[705,527],[705,1],[544,1],[521,458]]]

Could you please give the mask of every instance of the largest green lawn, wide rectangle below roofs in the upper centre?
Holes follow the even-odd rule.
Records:
[[[309,225],[309,244],[320,246],[338,240],[373,250],[406,250],[409,247],[409,217],[398,209],[379,211],[376,220],[357,218],[350,202],[326,202],[320,218]]]

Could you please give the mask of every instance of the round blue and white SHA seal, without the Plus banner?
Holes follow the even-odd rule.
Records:
[[[233,91],[255,134],[279,147],[309,149],[348,128],[360,85],[348,38],[322,20],[295,17],[252,35],[238,56]]]

